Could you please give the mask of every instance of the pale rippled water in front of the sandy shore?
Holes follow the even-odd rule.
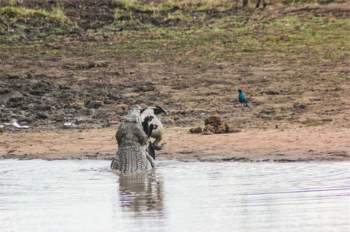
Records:
[[[0,161],[0,231],[350,231],[350,163]]]

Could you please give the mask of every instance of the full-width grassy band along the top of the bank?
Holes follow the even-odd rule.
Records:
[[[141,59],[166,57],[169,51],[172,54],[191,51],[208,59],[234,58],[249,52],[259,55],[267,51],[298,55],[305,49],[320,59],[343,59],[350,54],[349,12],[320,13],[316,9],[288,13],[283,6],[277,11],[242,9],[235,5],[237,1],[231,0],[108,2],[108,10],[103,14],[111,14],[112,20],[91,14],[89,20],[101,21],[94,28],[82,28],[76,17],[68,17],[73,15],[72,9],[65,8],[64,1],[51,9],[1,7],[0,42],[4,46],[38,39],[50,42],[59,40],[60,36],[79,39],[82,35],[92,40],[117,38],[117,43],[94,44],[91,52],[118,50],[136,54]],[[295,7],[305,2],[320,0],[280,1]],[[89,12],[88,8],[84,10]],[[96,13],[97,9],[90,12]]]

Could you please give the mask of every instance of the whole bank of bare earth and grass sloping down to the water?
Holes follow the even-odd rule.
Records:
[[[159,159],[348,160],[349,7],[176,11],[178,24],[136,29],[108,11],[108,25],[73,35],[45,34],[45,22],[37,32],[37,21],[24,30],[27,18],[18,26],[4,14],[0,156],[110,159],[116,125],[140,104],[169,111]],[[164,19],[147,14],[136,16]],[[251,108],[237,103],[239,88]],[[213,114],[241,132],[188,133]],[[4,126],[13,118],[30,129]]]

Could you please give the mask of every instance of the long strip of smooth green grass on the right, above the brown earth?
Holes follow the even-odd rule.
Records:
[[[344,59],[350,53],[350,19],[287,15],[273,20],[246,23],[244,14],[212,19],[191,27],[149,26],[128,31],[114,51],[133,53],[140,59],[183,56],[196,59],[230,60],[245,55],[269,54],[289,59],[310,56]]]

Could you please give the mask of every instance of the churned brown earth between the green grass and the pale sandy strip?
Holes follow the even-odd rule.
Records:
[[[170,112],[167,126],[195,126],[219,114],[234,129],[350,127],[349,60],[266,62],[144,63],[98,54],[33,59],[23,50],[1,60],[0,124],[16,118],[33,130],[69,121],[81,129],[108,127],[129,105],[158,104]],[[237,103],[239,87],[252,108]]]

